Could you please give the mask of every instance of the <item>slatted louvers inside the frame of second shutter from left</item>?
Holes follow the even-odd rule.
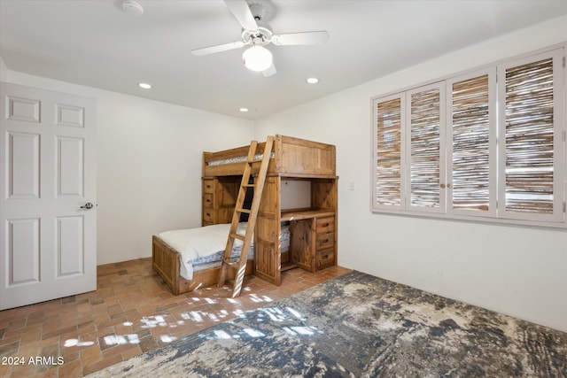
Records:
[[[411,95],[411,205],[439,208],[440,93],[424,90]]]

